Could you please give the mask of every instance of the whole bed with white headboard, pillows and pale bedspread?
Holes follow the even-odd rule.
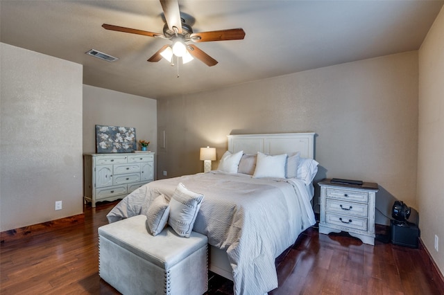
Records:
[[[275,258],[315,223],[317,165],[314,133],[230,135],[220,170],[153,181],[107,217],[147,214],[156,197],[171,198],[182,184],[205,196],[193,231],[208,237],[210,270],[233,280],[234,294],[265,294],[278,287]]]

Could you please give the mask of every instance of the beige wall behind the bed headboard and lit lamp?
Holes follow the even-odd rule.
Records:
[[[394,198],[417,206],[417,51],[159,100],[157,118],[159,177],[203,171],[199,147],[219,159],[227,134],[316,132],[316,179],[377,182],[385,215]]]

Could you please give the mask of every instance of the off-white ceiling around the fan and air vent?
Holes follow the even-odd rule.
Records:
[[[179,0],[194,32],[246,32],[244,40],[197,43],[219,64],[180,64],[179,78],[165,60],[146,62],[169,40],[101,27],[162,33],[158,0],[0,0],[0,40],[83,64],[85,84],[158,99],[417,50],[443,2]],[[119,60],[86,55],[91,48]]]

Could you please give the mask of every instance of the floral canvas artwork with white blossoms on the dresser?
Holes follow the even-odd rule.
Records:
[[[97,153],[133,152],[137,150],[134,127],[96,125]]]

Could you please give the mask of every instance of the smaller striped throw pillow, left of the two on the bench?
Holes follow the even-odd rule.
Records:
[[[146,229],[151,235],[160,233],[167,225],[169,203],[164,195],[156,197],[146,213]]]

